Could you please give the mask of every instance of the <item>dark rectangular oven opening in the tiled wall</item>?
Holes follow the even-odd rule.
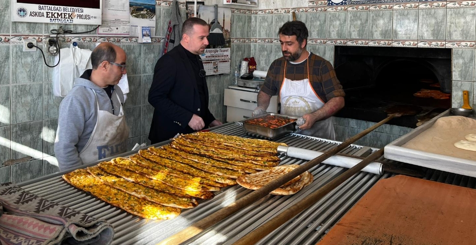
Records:
[[[337,117],[379,122],[387,117],[387,108],[412,105],[419,109],[417,115],[389,123],[415,128],[419,120],[451,107],[451,49],[336,46],[334,61],[346,93]],[[414,95],[422,90],[447,97]]]

